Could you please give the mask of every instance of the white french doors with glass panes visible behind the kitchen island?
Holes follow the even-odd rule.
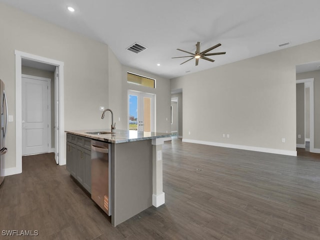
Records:
[[[128,90],[128,129],[155,131],[155,94]]]

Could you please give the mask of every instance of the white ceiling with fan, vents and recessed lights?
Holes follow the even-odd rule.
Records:
[[[169,78],[320,39],[320,0],[0,2],[108,44],[124,65]],[[212,52],[226,54],[211,57],[215,62],[200,59],[198,66],[194,60],[180,65],[188,58],[171,59],[184,55],[176,48],[194,52],[196,41],[201,50],[221,43]],[[134,42],[148,49],[138,54],[126,50]],[[290,44],[278,46],[285,42]]]

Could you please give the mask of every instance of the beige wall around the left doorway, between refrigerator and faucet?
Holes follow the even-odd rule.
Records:
[[[0,3],[0,79],[15,116],[14,50],[64,62],[65,129],[102,128],[108,104],[108,46]],[[8,123],[4,168],[15,167],[15,121]]]

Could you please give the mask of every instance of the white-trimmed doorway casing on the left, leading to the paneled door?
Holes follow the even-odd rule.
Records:
[[[11,174],[22,172],[22,59],[29,60],[35,64],[46,64],[53,67],[54,70],[54,101],[53,108],[55,109],[54,121],[54,156],[55,161],[59,165],[65,164],[64,152],[64,99],[63,99],[63,66],[62,61],[33,55],[18,50],[15,54],[15,145],[16,145],[16,160],[15,169]],[[52,122],[53,122],[52,121]],[[60,154],[61,153],[61,154]]]

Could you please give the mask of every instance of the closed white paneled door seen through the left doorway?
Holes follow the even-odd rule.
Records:
[[[46,80],[22,77],[22,155],[48,152]]]

